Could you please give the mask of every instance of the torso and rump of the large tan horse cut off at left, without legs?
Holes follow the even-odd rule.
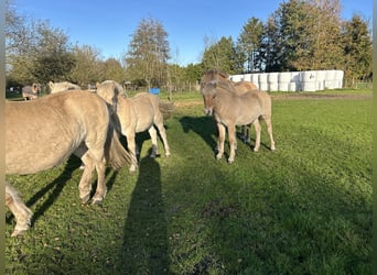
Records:
[[[31,174],[61,164],[89,131],[101,132],[107,127],[106,111],[106,103],[87,91],[7,101],[6,173]]]

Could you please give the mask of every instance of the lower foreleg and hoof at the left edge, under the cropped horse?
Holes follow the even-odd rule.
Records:
[[[22,202],[17,190],[6,183],[6,206],[15,218],[15,228],[12,237],[26,231],[31,224],[32,211]]]

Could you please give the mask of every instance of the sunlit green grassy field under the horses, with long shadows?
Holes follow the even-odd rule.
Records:
[[[371,274],[370,90],[316,95],[277,94],[277,152],[263,124],[231,165],[201,96],[174,95],[172,156],[140,134],[139,172],[108,169],[100,206],[80,205],[74,156],[8,177],[34,218],[14,239],[7,213],[7,274]]]

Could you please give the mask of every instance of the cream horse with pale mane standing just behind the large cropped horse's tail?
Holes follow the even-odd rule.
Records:
[[[162,102],[158,96],[149,92],[140,92],[132,98],[126,98],[121,95],[121,89],[118,86],[121,87],[114,80],[96,84],[97,94],[114,108],[119,122],[118,130],[126,136],[129,152],[132,155],[130,172],[136,172],[138,168],[136,133],[148,130],[152,140],[150,156],[155,157],[158,155],[157,128],[163,142],[165,156],[171,155],[163,122],[174,110],[174,103]]]

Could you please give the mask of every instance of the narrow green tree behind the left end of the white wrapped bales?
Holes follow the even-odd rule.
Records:
[[[238,37],[237,48],[241,58],[245,73],[261,69],[260,47],[263,34],[263,23],[257,18],[251,18],[243,26]]]

